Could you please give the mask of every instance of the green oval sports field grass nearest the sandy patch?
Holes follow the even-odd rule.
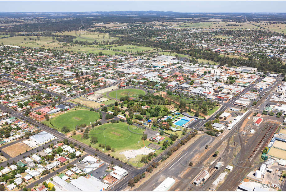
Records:
[[[93,148],[100,148],[98,144],[105,144],[111,146],[111,149],[115,150],[120,149],[140,149],[144,146],[143,141],[141,139],[144,130],[143,129],[134,129],[135,126],[129,126],[129,129],[133,132],[140,133],[135,134],[128,130],[127,123],[105,123],[100,126],[94,127],[89,131],[89,139],[83,139],[82,135],[73,135],[72,138],[79,140],[85,144],[90,145],[90,138],[97,137],[98,143],[91,144]],[[138,143],[139,141],[139,143]],[[104,151],[106,152],[106,151]],[[111,153],[109,151],[108,153]]]

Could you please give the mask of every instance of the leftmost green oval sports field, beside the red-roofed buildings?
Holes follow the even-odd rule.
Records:
[[[75,130],[75,126],[84,124],[89,125],[90,122],[97,121],[99,119],[99,113],[90,110],[72,110],[63,113],[57,117],[53,117],[50,121],[43,121],[48,126],[61,131],[63,126],[67,126],[71,131]],[[55,127],[53,127],[55,126]]]

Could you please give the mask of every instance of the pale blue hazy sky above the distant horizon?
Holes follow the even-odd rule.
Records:
[[[286,1],[0,1],[0,12],[175,11],[285,13]]]

